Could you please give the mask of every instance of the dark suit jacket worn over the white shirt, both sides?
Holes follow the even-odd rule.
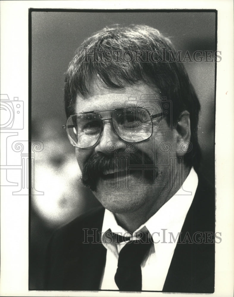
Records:
[[[178,241],[185,243],[176,245],[164,283],[164,292],[214,292],[214,200],[213,189],[205,180],[199,179]],[[100,243],[98,233],[102,229],[104,211],[104,208],[89,211],[54,234],[48,249],[46,290],[99,289],[106,262],[106,249]],[[94,234],[88,238],[86,244],[82,243],[84,232]],[[197,235],[197,240],[206,236],[205,241],[208,243],[194,242],[193,235],[196,232],[201,232]],[[211,241],[213,243],[209,243]]]

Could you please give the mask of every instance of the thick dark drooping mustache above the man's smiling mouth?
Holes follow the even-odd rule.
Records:
[[[125,156],[128,158],[128,162],[120,162],[121,157]],[[127,153],[127,155],[123,152],[118,154],[118,157],[115,154],[109,156],[103,153],[97,153],[89,157],[84,163],[82,171],[81,182],[84,186],[92,191],[96,191],[98,179],[104,177],[109,170],[126,171],[128,170],[128,165],[154,164],[153,160],[146,153],[140,151]]]

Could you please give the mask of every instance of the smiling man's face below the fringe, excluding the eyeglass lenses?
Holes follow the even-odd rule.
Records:
[[[129,97],[136,97],[134,100],[138,100],[136,101],[137,106],[145,108],[149,106],[151,115],[158,113],[161,109],[159,103],[152,105],[150,102],[147,104],[147,102],[139,101],[142,94],[155,94],[155,91],[145,83],[126,85],[123,89],[108,89],[93,80],[91,86],[86,98],[76,97],[76,113],[124,108],[126,102],[129,102]],[[156,97],[160,98],[158,94]],[[102,118],[109,118],[111,113],[112,111],[100,112],[100,115]],[[163,117],[160,128],[155,125],[153,135],[147,140],[137,142],[136,152],[131,153],[131,150],[126,149],[129,142],[122,140],[114,132],[111,120],[104,120],[103,131],[98,143],[88,149],[76,148],[78,165],[82,174],[86,175],[87,185],[91,187],[94,195],[105,208],[114,213],[131,212],[146,206],[150,209],[160,200],[165,199],[165,196],[160,196],[160,192],[168,188],[169,170],[165,167],[152,170],[149,169],[149,165],[169,164],[168,153],[159,147],[162,141],[175,138],[174,129],[168,128],[166,119]],[[111,146],[111,144],[115,146]],[[110,148],[113,147],[117,147],[118,150],[111,150]],[[119,154],[117,155],[117,153]],[[122,156],[123,154],[129,155],[128,165],[144,164],[148,167],[145,167],[145,170],[142,168],[131,169],[126,174],[126,159],[123,157],[121,159],[121,154]],[[131,157],[134,154],[136,154],[135,158]],[[111,162],[107,162],[110,160]],[[119,160],[122,161],[119,162]],[[119,162],[117,167],[116,162]],[[97,168],[102,169],[99,171]],[[89,180],[90,176],[92,176],[91,181]]]

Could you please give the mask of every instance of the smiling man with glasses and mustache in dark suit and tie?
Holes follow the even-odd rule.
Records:
[[[102,207],[54,234],[45,288],[212,293],[200,104],[171,42],[148,26],[99,31],[70,62],[65,109],[82,182]]]

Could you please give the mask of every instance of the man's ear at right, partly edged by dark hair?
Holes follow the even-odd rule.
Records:
[[[189,112],[184,110],[180,113],[178,122],[175,126],[176,140],[177,140],[177,153],[181,154],[180,145],[187,143],[191,138],[190,118]]]

